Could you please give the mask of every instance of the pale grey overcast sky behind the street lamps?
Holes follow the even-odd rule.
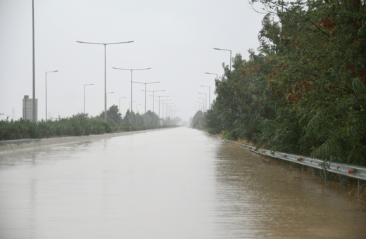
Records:
[[[104,46],[76,41],[120,42],[106,46],[108,108],[118,105],[125,115],[131,98],[130,71],[134,82],[147,90],[164,90],[179,108],[177,116],[189,120],[198,98],[215,98],[215,75],[229,65],[231,49],[248,59],[248,49],[257,49],[263,15],[245,0],[34,0],[35,70],[38,119],[45,118],[45,72],[47,108],[51,117],[68,117],[84,110],[99,115],[104,110]],[[144,112],[144,84],[133,85],[133,101]],[[152,92],[151,92],[152,93]],[[146,110],[153,97],[146,97]],[[0,0],[0,120],[22,117],[22,98],[32,98],[32,0]],[[158,99],[158,98],[156,98]],[[163,100],[163,98],[161,98]],[[207,95],[208,101],[208,95]],[[167,102],[168,103],[168,102]],[[161,107],[160,107],[161,110]],[[155,111],[158,112],[156,102]],[[161,115],[161,112],[160,112]]]

